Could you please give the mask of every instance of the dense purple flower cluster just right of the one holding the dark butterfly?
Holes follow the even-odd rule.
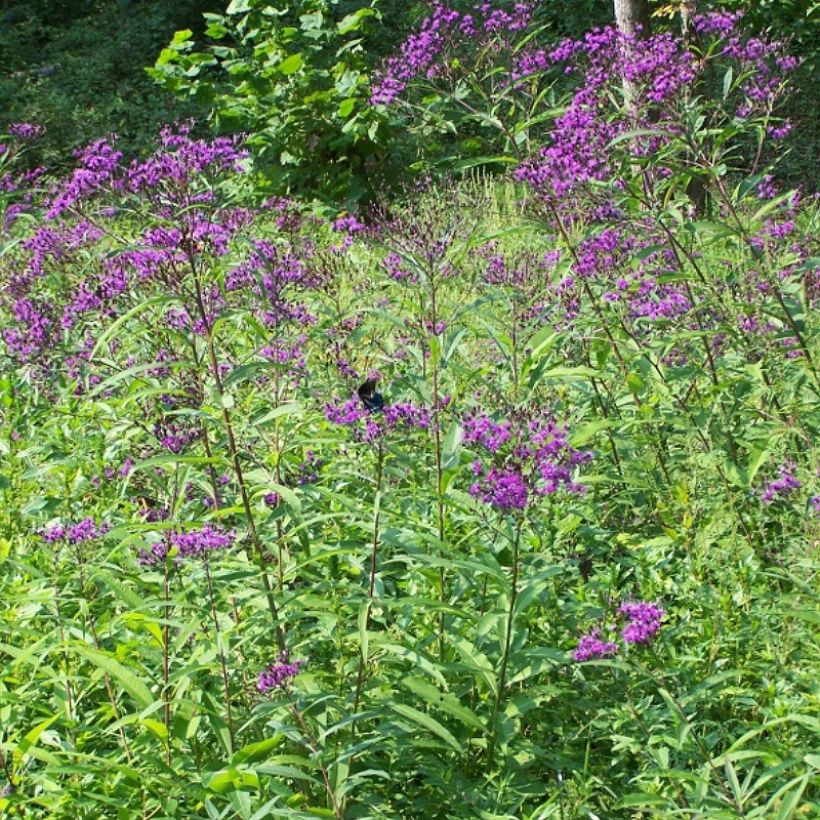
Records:
[[[494,421],[475,413],[463,421],[466,445],[485,451],[486,461],[473,462],[475,481],[470,494],[502,511],[524,510],[532,497],[560,489],[583,493],[573,479],[576,469],[592,454],[570,447],[568,432],[553,419],[516,414]]]

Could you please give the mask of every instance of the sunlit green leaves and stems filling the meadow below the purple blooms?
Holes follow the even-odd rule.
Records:
[[[133,279],[27,366],[4,359],[0,751],[13,788],[0,807],[89,820],[812,816],[820,333],[799,273],[785,308],[764,302],[774,331],[737,330],[744,301],[726,294],[752,264],[781,271],[792,242],[746,241],[790,207],[761,207],[755,183],[729,195],[742,229],[669,204],[687,256],[666,275],[708,330],[636,320],[602,300],[605,279],[566,323],[556,286],[600,226],[561,235],[520,188],[476,180],[393,205],[363,240],[284,203],[227,253],[190,234],[177,246],[189,264]],[[108,220],[46,260],[37,295],[54,315],[148,230],[205,214],[248,228],[234,179],[186,184],[172,176],[144,199],[101,188],[52,220]],[[5,281],[30,261],[25,220],[6,236]],[[796,236],[817,220],[801,212]],[[278,263],[237,290],[252,240]],[[396,257],[415,281],[390,275]],[[528,274],[488,277],[493,257]],[[277,303],[257,288],[280,275],[301,307],[271,323]],[[315,321],[300,324],[305,310]],[[783,356],[789,319],[803,356]],[[389,405],[426,407],[433,423],[375,441],[356,430],[386,413],[331,423],[325,403],[374,368]],[[486,453],[465,430],[480,412],[566,425],[594,453],[576,475],[587,492],[524,511],[476,499]],[[169,429],[197,435],[179,448],[162,443]],[[787,462],[800,486],[765,503]],[[111,529],[40,535],[87,516]],[[214,524],[236,532],[232,549],[137,560],[169,531]],[[573,662],[579,635],[609,629],[629,598],[662,603],[655,643]],[[263,694],[280,636],[306,665]]]

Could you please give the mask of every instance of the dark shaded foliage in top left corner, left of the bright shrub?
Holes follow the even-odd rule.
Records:
[[[111,132],[127,150],[144,150],[160,123],[198,113],[160,92],[144,66],[175,27],[198,26],[212,5],[12,3],[0,11],[0,129],[16,121],[45,126],[39,159],[53,169]]]

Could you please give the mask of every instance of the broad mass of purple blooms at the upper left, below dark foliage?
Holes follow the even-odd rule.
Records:
[[[253,222],[246,209],[221,207],[215,193],[220,174],[244,171],[245,153],[236,139],[194,139],[188,125],[166,127],[157,150],[130,164],[115,140],[99,139],[77,152],[74,171],[46,198],[49,224],[21,243],[23,253],[0,291],[14,317],[2,330],[3,341],[22,363],[47,370],[45,354],[61,352],[60,330],[74,328],[89,314],[116,315],[117,300],[141,286],[155,283],[187,297],[191,265],[226,255],[234,237]],[[92,206],[93,226],[83,216]],[[137,237],[108,231],[105,223],[121,211],[141,214],[149,227]],[[77,270],[81,277],[74,275]],[[51,273],[68,280],[62,284],[64,300],[42,295],[40,280]],[[226,300],[215,285],[204,289],[203,300],[205,318],[178,310],[171,324],[206,333]]]

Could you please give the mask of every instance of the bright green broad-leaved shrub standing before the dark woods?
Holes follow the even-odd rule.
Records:
[[[401,173],[368,100],[378,0],[235,0],[205,19],[206,49],[179,31],[150,73],[208,106],[218,131],[249,134],[269,191],[351,208]]]

